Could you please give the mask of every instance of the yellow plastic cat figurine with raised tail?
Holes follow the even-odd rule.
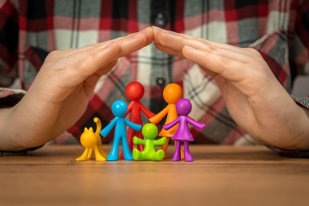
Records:
[[[101,121],[99,118],[95,117],[93,122],[96,123],[97,129],[93,132],[93,128],[84,128],[84,132],[80,135],[80,143],[85,147],[82,155],[76,159],[76,161],[86,161],[87,159],[92,159],[93,151],[96,161],[106,161],[107,154],[102,148],[102,140],[100,136],[100,130],[102,128]]]

